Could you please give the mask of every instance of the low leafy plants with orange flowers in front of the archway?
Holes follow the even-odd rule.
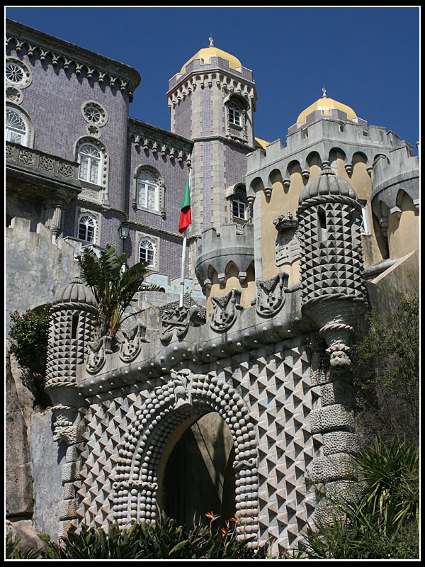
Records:
[[[127,529],[111,523],[108,530],[81,527],[69,529],[59,544],[48,542],[38,551],[45,559],[246,559],[266,558],[267,547],[254,551],[252,538],[238,541],[236,517],[216,528],[218,517],[209,515],[210,525],[198,524],[187,530],[175,520],[155,523],[133,522]],[[9,541],[6,558],[19,557],[16,544]],[[37,555],[37,554],[36,554]]]

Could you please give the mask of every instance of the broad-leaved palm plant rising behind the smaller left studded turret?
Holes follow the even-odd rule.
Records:
[[[92,249],[85,248],[78,257],[81,278],[98,302],[101,337],[115,337],[124,312],[138,291],[164,291],[154,283],[144,283],[148,274],[147,262],[138,262],[123,271],[127,257],[128,254],[118,255],[111,244],[107,244],[99,256]]]

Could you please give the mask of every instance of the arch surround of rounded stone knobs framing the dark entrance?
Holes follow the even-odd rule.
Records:
[[[239,539],[258,544],[258,471],[254,424],[249,408],[228,383],[208,374],[183,370],[157,388],[138,411],[118,451],[113,517],[118,524],[154,521],[159,497],[159,464],[171,435],[200,415],[217,412],[234,442],[234,477]]]

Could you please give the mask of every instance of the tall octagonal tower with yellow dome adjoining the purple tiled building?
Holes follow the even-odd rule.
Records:
[[[212,45],[193,55],[169,81],[171,132],[193,140],[191,235],[233,218],[235,185],[246,202],[246,155],[255,149],[253,74],[233,55]],[[193,260],[193,258],[191,258]],[[192,262],[193,265],[193,262]]]

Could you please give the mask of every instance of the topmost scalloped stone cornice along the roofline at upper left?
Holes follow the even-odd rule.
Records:
[[[116,84],[120,91],[128,91],[130,102],[140,84],[140,74],[128,65],[6,19],[6,45],[10,43],[15,44],[19,55],[26,52],[32,57],[38,53],[41,61],[54,67],[62,64],[65,70],[72,69],[77,75],[84,73],[87,79],[107,83],[111,88]]]

